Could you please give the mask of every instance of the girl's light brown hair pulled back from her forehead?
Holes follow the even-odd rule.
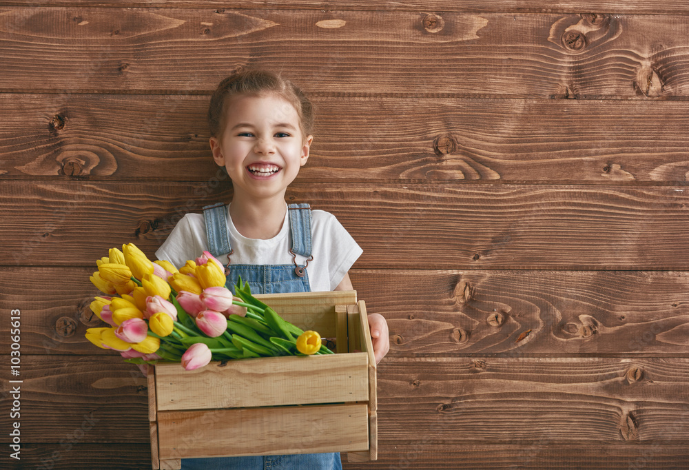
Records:
[[[227,103],[234,96],[276,94],[294,106],[299,116],[302,138],[313,132],[313,104],[291,81],[280,74],[267,70],[245,70],[236,72],[218,84],[208,106],[208,127],[211,136],[222,140],[227,120]]]

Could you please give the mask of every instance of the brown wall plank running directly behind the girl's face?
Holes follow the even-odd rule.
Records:
[[[0,177],[226,181],[209,152],[208,102],[194,95],[0,94]],[[316,138],[300,170],[304,182],[686,184],[689,174],[683,101],[313,102]]]

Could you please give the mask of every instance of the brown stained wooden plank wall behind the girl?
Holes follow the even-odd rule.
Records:
[[[88,275],[229,198],[205,110],[251,67],[316,103],[288,198],[390,326],[380,457],[345,468],[688,466],[685,0],[0,0],[0,63],[0,467],[150,465]]]

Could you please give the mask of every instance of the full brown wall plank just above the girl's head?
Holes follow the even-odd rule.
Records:
[[[669,15],[8,7],[0,21],[5,92],[207,93],[269,66],[326,94],[689,94],[689,22]]]

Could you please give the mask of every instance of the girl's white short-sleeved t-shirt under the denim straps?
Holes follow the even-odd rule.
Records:
[[[234,253],[232,267],[235,265],[292,265],[289,236],[289,217],[285,214],[280,232],[268,240],[247,238],[237,232],[232,217],[227,212],[227,230],[229,242]],[[351,238],[349,232],[338,219],[322,210],[311,211],[311,233],[313,260],[309,261],[307,273],[311,292],[331,291],[335,289],[349,271],[351,265],[361,256],[362,249]],[[176,267],[183,266],[187,260],[194,260],[208,249],[206,226],[203,214],[186,214],[175,225],[167,240],[158,248],[156,257],[168,260]],[[227,256],[219,258],[220,263],[227,264]],[[296,256],[300,265],[306,258]]]

